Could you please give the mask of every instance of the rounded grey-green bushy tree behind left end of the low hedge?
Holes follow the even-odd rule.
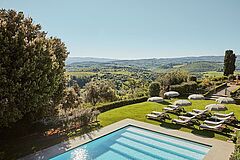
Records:
[[[96,80],[86,85],[85,100],[94,106],[98,102],[114,101],[115,99],[115,88],[110,81]]]

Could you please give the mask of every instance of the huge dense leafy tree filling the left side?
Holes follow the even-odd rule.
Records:
[[[0,10],[0,127],[50,115],[63,97],[67,49],[32,21]]]

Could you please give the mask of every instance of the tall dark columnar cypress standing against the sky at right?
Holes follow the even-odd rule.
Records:
[[[224,76],[229,76],[230,74],[234,74],[234,71],[236,69],[235,66],[236,62],[236,55],[233,53],[233,50],[226,50],[225,51],[225,57],[224,57]]]

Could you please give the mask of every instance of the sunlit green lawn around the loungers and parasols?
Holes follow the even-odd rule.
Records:
[[[166,105],[168,105],[173,101],[174,100],[167,101],[164,104],[154,103],[154,102],[143,102],[143,103],[124,106],[121,108],[112,109],[100,114],[99,121],[102,126],[107,126],[112,123],[123,120],[125,118],[131,118],[138,121],[151,123],[154,125],[160,125],[166,128],[177,129],[185,132],[191,132],[193,134],[200,135],[200,136],[207,136],[207,137],[212,137],[220,140],[228,139],[227,135],[218,134],[212,131],[199,130],[198,126],[194,126],[195,128],[188,128],[181,125],[172,124],[171,120],[167,120],[166,122],[158,122],[158,121],[146,119],[145,115],[147,113],[150,113],[151,111],[162,111],[163,107],[166,107]],[[215,101],[212,101],[212,100],[195,100],[191,102],[192,102],[192,106],[184,107],[186,111],[191,111],[192,109],[204,109],[207,104],[215,103]],[[230,104],[226,106],[228,107],[228,110],[224,111],[223,113],[229,113],[233,111],[236,117],[240,118],[240,106],[237,106],[235,104]],[[174,115],[174,114],[170,114],[170,116],[171,118],[178,117],[177,115]]]

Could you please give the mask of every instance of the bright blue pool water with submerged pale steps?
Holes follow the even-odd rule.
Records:
[[[127,126],[51,160],[202,160],[210,146]]]

